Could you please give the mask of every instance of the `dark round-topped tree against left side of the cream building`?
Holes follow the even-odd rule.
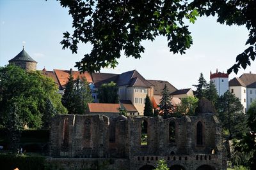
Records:
[[[103,83],[98,89],[99,103],[118,103],[118,87],[116,83]]]

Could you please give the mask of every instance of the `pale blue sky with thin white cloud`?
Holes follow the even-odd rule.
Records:
[[[191,88],[202,72],[209,81],[210,71],[226,72],[243,52],[248,38],[245,27],[227,26],[216,23],[216,18],[198,18],[189,24],[193,45],[186,55],[169,52],[164,37],[156,41],[143,41],[145,53],[141,59],[118,60],[116,69],[102,69],[102,73],[123,73],[136,69],[149,80],[167,80],[177,89]],[[75,62],[90,52],[90,46],[79,45],[77,54],[62,50],[60,41],[63,32],[72,31],[72,18],[58,1],[44,0],[1,0],[0,1],[0,66],[8,64],[22,50],[38,62],[37,69],[70,69]],[[243,73],[256,73],[256,61],[245,71],[230,74],[229,79]]]

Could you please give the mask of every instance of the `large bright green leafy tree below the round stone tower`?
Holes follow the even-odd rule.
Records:
[[[41,127],[47,99],[51,99],[57,113],[65,113],[67,110],[57,90],[54,80],[38,71],[26,72],[17,66],[0,67],[0,124],[7,124],[14,107],[22,127]]]

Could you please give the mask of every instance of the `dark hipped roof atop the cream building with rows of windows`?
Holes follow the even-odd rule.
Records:
[[[119,74],[116,80],[117,86],[129,86],[129,87],[153,87],[152,83],[148,82],[140,73],[136,70],[127,71]]]

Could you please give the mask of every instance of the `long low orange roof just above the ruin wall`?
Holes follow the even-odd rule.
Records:
[[[90,113],[119,113],[120,104],[88,103]]]

